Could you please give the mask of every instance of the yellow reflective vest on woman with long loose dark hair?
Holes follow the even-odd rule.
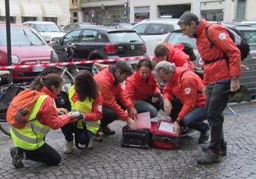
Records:
[[[76,92],[75,87],[74,86],[70,87],[68,97],[71,104],[71,109],[78,112],[82,112],[84,114],[90,113],[93,101],[90,101],[89,98],[85,98],[85,101],[76,101],[74,103],[72,98],[73,98],[73,95],[75,95],[75,92]],[[99,130],[100,120],[86,121],[85,124],[88,130],[96,134],[96,132]],[[81,121],[77,122],[77,127],[79,129],[83,129]]]

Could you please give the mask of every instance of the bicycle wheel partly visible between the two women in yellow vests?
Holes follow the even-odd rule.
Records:
[[[70,72],[67,71],[67,68],[60,68],[60,67],[52,67],[52,68],[47,68],[46,70],[42,71],[39,76],[45,76],[51,73],[58,74],[62,76],[63,79],[63,87],[62,90],[65,92],[68,92],[70,87],[73,85],[73,75],[70,74]]]

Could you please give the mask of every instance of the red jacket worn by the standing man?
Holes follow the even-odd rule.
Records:
[[[225,58],[211,64],[204,64],[204,84],[214,84],[217,81],[229,80],[232,77],[240,77],[241,59],[240,51],[230,38],[226,27],[221,24],[213,24],[209,27],[209,38],[206,36],[205,28],[209,26],[206,20],[202,20],[197,27],[197,49],[206,63],[226,54],[229,58],[229,66]]]

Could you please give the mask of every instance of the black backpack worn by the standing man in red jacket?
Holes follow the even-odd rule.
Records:
[[[217,23],[217,24],[220,24],[220,23]],[[205,30],[206,30],[206,37],[211,42],[211,46],[212,46],[214,45],[214,43],[211,41],[211,38],[209,37],[209,33],[208,33],[208,29],[211,25],[206,27]],[[246,37],[243,36],[243,34],[240,33],[240,31],[237,30],[235,27],[226,27],[226,30],[228,30],[230,38],[232,38],[232,41],[234,41],[234,44],[240,50],[241,60],[243,61],[249,55],[249,52],[250,52],[250,47],[249,47],[248,41],[246,40]]]

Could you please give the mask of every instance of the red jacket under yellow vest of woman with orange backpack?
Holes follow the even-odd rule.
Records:
[[[68,124],[70,121],[68,115],[57,115],[56,107],[53,102],[53,98],[56,98],[56,95],[46,87],[43,87],[42,92],[49,96],[39,109],[38,114],[41,116],[39,122],[45,126],[50,126],[52,129],[59,129]]]

